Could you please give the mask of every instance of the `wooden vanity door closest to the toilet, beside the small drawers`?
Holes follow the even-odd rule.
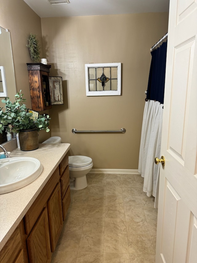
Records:
[[[48,202],[51,251],[55,251],[63,227],[61,186],[57,184]]]

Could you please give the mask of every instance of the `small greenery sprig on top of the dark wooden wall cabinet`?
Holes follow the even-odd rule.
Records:
[[[39,44],[39,40],[36,38],[36,35],[33,35],[32,33],[30,33],[30,37],[28,38],[28,40],[29,40],[29,44],[26,46],[29,47],[31,59],[35,63],[38,63],[41,60],[40,58],[41,46]]]

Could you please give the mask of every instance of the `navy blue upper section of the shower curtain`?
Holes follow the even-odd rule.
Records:
[[[166,75],[167,42],[151,51],[151,67],[148,79],[147,100],[159,101],[163,104]]]

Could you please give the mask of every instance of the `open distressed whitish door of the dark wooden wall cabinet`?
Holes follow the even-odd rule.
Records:
[[[62,77],[49,77],[51,105],[64,104]]]

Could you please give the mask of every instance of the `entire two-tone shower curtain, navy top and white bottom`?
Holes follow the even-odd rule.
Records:
[[[159,168],[155,157],[160,158],[163,120],[163,98],[166,73],[167,42],[151,51],[151,67],[148,79],[147,98],[143,114],[143,124],[139,151],[138,171],[144,177],[143,191],[155,197],[158,207]]]

